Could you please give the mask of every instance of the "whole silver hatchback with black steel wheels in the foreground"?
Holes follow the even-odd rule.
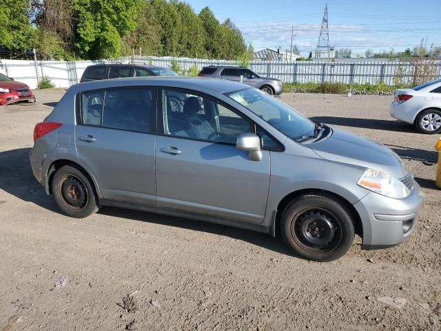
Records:
[[[401,243],[424,201],[388,148],[220,79],[72,86],[34,141],[34,176],[70,217],[112,205],[220,223],[314,261],[338,259],[355,234],[365,249]]]

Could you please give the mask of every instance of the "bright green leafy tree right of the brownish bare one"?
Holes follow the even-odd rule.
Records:
[[[136,29],[142,0],[73,0],[75,48],[82,57],[121,55],[121,37]]]

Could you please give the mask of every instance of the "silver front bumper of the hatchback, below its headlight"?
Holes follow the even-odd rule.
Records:
[[[409,197],[392,199],[369,192],[353,206],[363,226],[362,249],[387,248],[402,243],[416,226],[424,193],[414,181]]]

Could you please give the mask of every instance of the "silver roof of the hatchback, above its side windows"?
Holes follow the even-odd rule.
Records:
[[[250,88],[243,83],[223,79],[205,77],[151,76],[88,81],[85,83],[76,84],[72,86],[70,90],[72,90],[72,92],[74,93],[77,93],[88,90],[99,90],[101,88],[115,88],[125,86],[163,86],[166,88],[183,88],[214,94]]]

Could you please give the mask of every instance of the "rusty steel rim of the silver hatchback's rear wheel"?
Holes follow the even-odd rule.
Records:
[[[78,177],[68,174],[58,183],[59,196],[66,208],[74,211],[83,210],[89,201],[88,188]]]

